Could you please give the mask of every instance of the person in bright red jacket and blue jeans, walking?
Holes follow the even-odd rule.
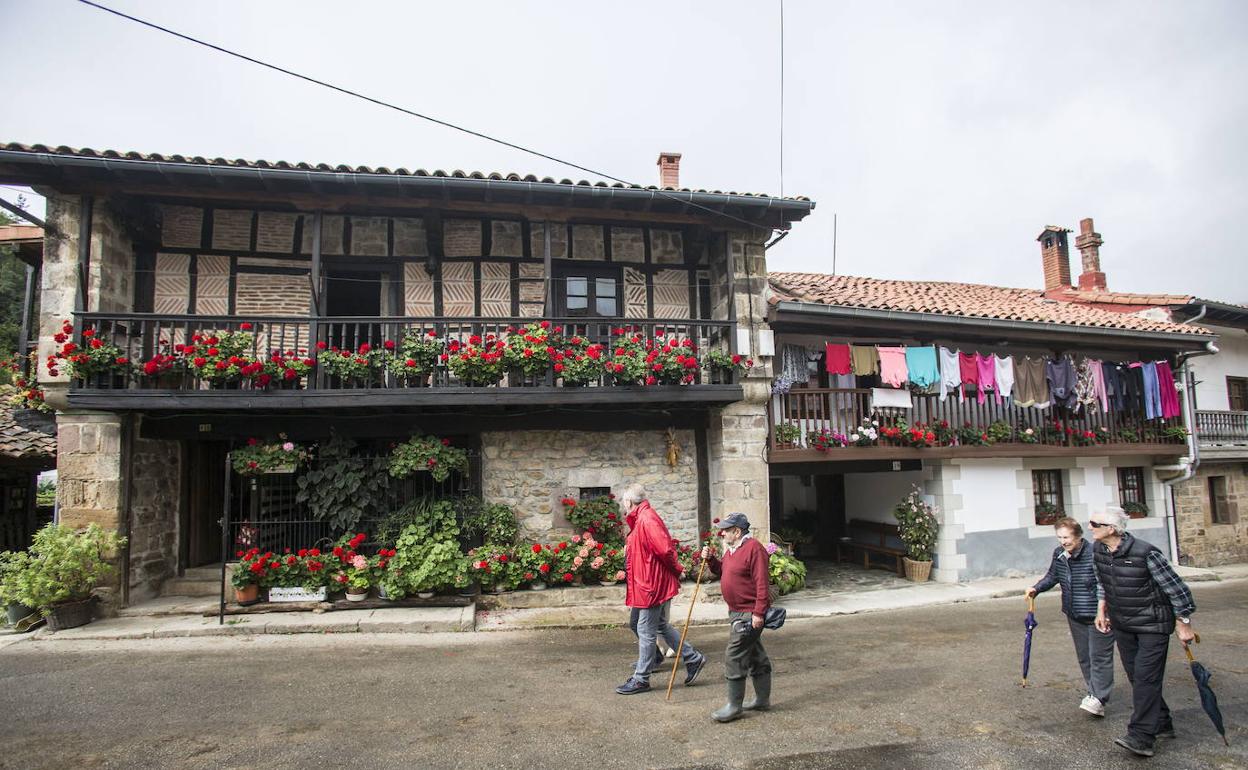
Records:
[[[655,639],[663,636],[671,649],[680,648],[680,631],[668,624],[666,609],[680,592],[680,563],[668,527],[659,513],[645,499],[645,489],[640,484],[625,487],[619,500],[628,510],[624,523],[628,524],[628,539],[624,545],[625,562],[625,604],[638,610],[636,645],[638,659],[633,675],[628,681],[615,688],[620,695],[645,693],[650,689],[650,670],[658,665],[654,659]],[[685,661],[685,685],[698,679],[706,656],[689,643],[680,649]]]

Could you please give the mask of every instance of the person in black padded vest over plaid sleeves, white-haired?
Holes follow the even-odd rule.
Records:
[[[1093,513],[1088,522],[1096,540],[1101,597],[1096,625],[1102,631],[1113,628],[1134,706],[1127,735],[1113,743],[1132,754],[1152,756],[1156,739],[1174,738],[1169,706],[1162,698],[1166,654],[1176,620],[1179,641],[1196,636],[1191,618],[1196,602],[1166,555],[1127,533],[1128,520],[1121,508],[1109,508]]]

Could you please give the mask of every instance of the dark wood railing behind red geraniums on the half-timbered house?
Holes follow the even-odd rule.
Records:
[[[291,318],[278,316],[163,316],[156,313],[79,313],[74,339],[76,344],[116,346],[129,362],[126,372],[75,381],[79,391],[208,391],[208,389],[262,389],[255,377],[233,377],[228,382],[210,382],[200,376],[177,346],[192,344],[196,337],[223,337],[231,332],[247,332],[246,349],[238,357],[247,361],[267,361],[273,353],[298,357],[301,361],[317,359],[333,348],[358,351],[368,343],[374,351],[384,351],[387,341],[396,348],[408,332],[426,334],[437,332],[437,339],[449,344],[467,344],[474,337],[482,339],[493,334],[504,337],[508,327],[519,329],[535,318],[451,318],[451,317],[311,317]],[[689,339],[696,346],[700,361],[710,351],[730,353],[735,344],[734,323],[730,321],[690,321],[655,318],[548,318],[552,327],[562,328],[565,338],[577,336],[588,343],[610,344],[617,331],[628,328],[649,339]],[[84,337],[84,331],[90,331]],[[176,366],[165,371],[145,373],[144,364],[156,356],[178,358]],[[609,353],[608,353],[609,356]],[[736,384],[731,372],[691,369],[691,384]],[[499,383],[508,386],[558,387],[559,376],[548,369],[544,376],[518,378],[504,377]],[[589,387],[613,384],[609,373],[603,373],[587,383]],[[300,389],[384,389],[404,387],[462,387],[446,366],[438,366],[428,377],[412,378],[377,367],[367,378],[343,379],[332,377],[322,368],[312,366],[307,374],[293,382],[275,379],[268,388]]]

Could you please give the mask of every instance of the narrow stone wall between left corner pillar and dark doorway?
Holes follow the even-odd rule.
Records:
[[[130,600],[155,595],[177,572],[181,448],[140,438],[130,479]]]

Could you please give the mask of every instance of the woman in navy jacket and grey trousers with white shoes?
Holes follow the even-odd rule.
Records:
[[[1048,572],[1027,589],[1027,598],[1042,594],[1055,585],[1062,587],[1062,612],[1071,626],[1075,655],[1080,660],[1087,695],[1080,708],[1093,716],[1104,716],[1104,704],[1113,691],[1113,633],[1096,626],[1096,567],[1092,564],[1092,543],[1083,539],[1083,528],[1072,518],[1053,524],[1057,548]]]

